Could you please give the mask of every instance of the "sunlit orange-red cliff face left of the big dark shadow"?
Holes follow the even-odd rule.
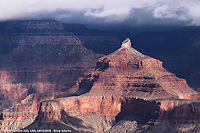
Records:
[[[61,120],[67,116],[99,114],[114,117],[120,112],[121,98],[116,96],[78,96],[44,101],[41,103],[38,120]],[[67,106],[66,106],[67,104]]]

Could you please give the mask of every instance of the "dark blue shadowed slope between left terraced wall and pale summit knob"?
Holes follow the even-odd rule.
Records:
[[[74,33],[81,40],[83,46],[95,53],[109,54],[121,45],[119,39],[109,32],[88,29],[81,24],[65,24],[64,29]]]

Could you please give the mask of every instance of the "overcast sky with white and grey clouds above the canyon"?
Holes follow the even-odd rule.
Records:
[[[200,0],[0,0],[0,21],[200,26]]]

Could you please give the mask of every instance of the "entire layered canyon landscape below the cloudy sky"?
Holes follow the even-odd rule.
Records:
[[[1,132],[200,132],[198,49],[155,52],[146,34],[121,43],[79,24],[1,23]]]

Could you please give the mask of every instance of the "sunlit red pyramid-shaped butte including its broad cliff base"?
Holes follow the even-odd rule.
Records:
[[[66,92],[29,95],[3,110],[1,130],[199,132],[199,106],[186,80],[126,39]]]

